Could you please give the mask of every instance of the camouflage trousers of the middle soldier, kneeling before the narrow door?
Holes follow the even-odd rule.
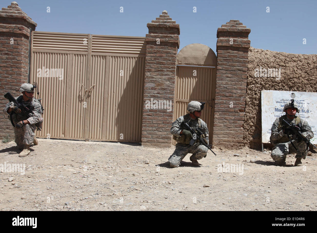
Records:
[[[176,144],[176,149],[173,154],[168,159],[171,167],[178,167],[180,162],[185,158],[188,153],[191,153],[190,159],[202,159],[207,154],[208,148],[206,146],[195,144],[193,146],[190,145],[183,145],[183,144]]]

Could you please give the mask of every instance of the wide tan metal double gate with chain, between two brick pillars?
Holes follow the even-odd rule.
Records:
[[[37,136],[141,142],[145,52],[145,37],[32,32],[30,82],[45,108]]]

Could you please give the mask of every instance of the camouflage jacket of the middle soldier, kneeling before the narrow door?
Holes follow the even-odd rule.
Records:
[[[196,119],[191,119],[191,117],[189,116],[189,113],[181,116],[179,118],[177,118],[173,123],[172,123],[172,127],[171,127],[171,134],[179,137],[179,133],[183,130],[180,125],[181,123],[184,121],[184,119],[186,119],[186,123],[188,124],[189,127],[191,127],[193,130],[199,129],[203,134],[204,134],[204,139],[208,142],[209,144],[209,131],[208,131],[208,127],[207,124],[199,119],[200,121],[200,127],[199,127],[199,122],[198,122],[198,118]]]

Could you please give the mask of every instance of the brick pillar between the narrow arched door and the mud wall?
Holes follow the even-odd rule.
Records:
[[[239,20],[230,20],[217,30],[215,146],[243,146],[250,31]]]

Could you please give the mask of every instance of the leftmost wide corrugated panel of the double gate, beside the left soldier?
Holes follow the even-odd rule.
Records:
[[[62,138],[64,135],[64,122],[66,122],[66,88],[68,80],[69,54],[34,52],[31,59],[31,83],[34,81],[39,85],[40,96],[44,107],[44,122],[42,131],[36,131],[37,136]],[[37,69],[60,68],[63,79],[59,77],[41,77]],[[45,75],[45,74],[44,74]],[[37,97],[37,95],[36,95]],[[49,135],[48,135],[49,134]]]

